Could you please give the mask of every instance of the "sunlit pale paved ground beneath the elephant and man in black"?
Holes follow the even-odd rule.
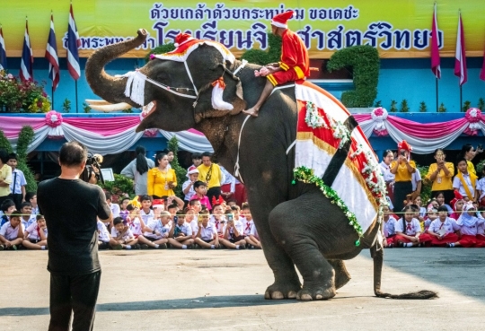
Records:
[[[352,280],[331,301],[265,301],[272,273],[260,250],[101,252],[96,330],[482,330],[485,249],[385,251],[384,292],[429,289],[440,298],[374,297],[372,260],[348,261]],[[46,330],[47,252],[0,254],[0,330]]]

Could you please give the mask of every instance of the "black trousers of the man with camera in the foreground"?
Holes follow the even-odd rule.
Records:
[[[101,271],[93,274],[50,274],[49,331],[68,331],[74,312],[73,331],[93,330]]]

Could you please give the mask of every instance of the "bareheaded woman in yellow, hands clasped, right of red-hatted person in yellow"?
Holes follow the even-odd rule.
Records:
[[[445,204],[449,204],[454,198],[454,164],[452,162],[446,162],[445,158],[445,152],[441,148],[438,148],[435,151],[435,160],[437,162],[429,165],[426,179],[433,182],[431,196],[437,196],[438,192],[443,192],[443,195],[445,196]]]

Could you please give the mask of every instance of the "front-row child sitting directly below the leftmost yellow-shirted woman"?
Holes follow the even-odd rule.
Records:
[[[171,217],[172,215],[167,211],[160,212],[160,218],[154,218],[145,225],[145,232],[142,236],[138,236],[138,242],[151,248],[167,248]]]

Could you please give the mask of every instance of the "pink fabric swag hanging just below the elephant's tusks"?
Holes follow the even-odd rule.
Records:
[[[119,118],[64,118],[63,122],[98,135],[117,135],[140,124],[140,118],[125,116]]]

